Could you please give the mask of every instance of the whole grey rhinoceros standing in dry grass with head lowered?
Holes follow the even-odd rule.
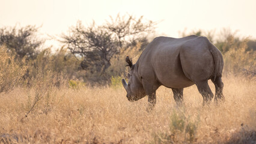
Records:
[[[215,85],[215,102],[224,100],[223,57],[206,37],[156,37],[135,64],[129,56],[126,62],[130,67],[129,82],[122,79],[122,83],[129,101],[148,95],[149,106],[154,107],[156,90],[163,85],[172,89],[174,100],[180,105],[183,104],[183,88],[195,84],[203,96],[203,105],[209,104],[213,98],[209,79]]]

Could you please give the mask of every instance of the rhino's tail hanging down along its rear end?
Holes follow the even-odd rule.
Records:
[[[213,72],[213,79],[215,81],[216,76],[218,74],[222,73],[223,69],[223,58],[221,52],[218,50],[217,47],[215,47],[212,43],[210,43],[210,52],[212,53],[213,56],[213,61],[215,63],[215,68]]]

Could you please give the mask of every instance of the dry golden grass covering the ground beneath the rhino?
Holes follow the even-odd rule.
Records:
[[[147,112],[147,98],[131,103],[123,88],[47,89],[32,106],[37,88],[0,94],[0,142],[10,143],[164,143],[173,113],[197,123],[192,143],[254,143],[256,81],[224,77],[225,103],[203,107],[196,86],[184,89],[177,107],[171,89],[157,90],[157,104]],[[215,92],[212,82],[210,86]],[[170,135],[168,135],[170,134]],[[175,143],[184,143],[184,133]],[[186,142],[185,142],[186,143]]]

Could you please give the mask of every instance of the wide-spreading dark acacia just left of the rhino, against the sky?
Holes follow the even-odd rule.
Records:
[[[111,65],[111,58],[142,41],[147,43],[146,35],[154,30],[156,23],[144,21],[143,17],[120,17],[118,14],[111,22],[97,26],[95,23],[85,27],[80,21],[69,29],[68,35],[62,35],[62,43],[66,44],[75,56],[84,58],[81,67],[91,73],[104,74]],[[145,44],[144,44],[145,45]]]

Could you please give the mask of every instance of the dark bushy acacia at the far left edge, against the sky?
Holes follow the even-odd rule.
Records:
[[[8,52],[12,52],[16,58],[35,59],[38,49],[43,44],[42,40],[36,38],[38,28],[25,26],[20,29],[14,27],[0,28],[0,46],[5,45]]]

